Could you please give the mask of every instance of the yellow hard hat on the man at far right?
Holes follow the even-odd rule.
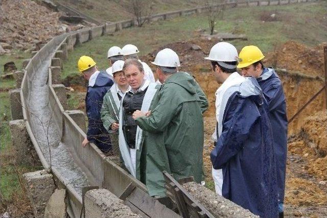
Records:
[[[248,45],[243,47],[239,55],[238,68],[247,67],[255,62],[264,59],[264,55],[260,51],[259,47],[254,45]]]

